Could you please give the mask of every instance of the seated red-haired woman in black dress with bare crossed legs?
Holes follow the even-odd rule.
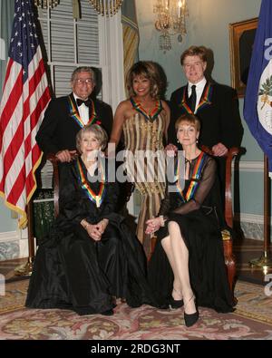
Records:
[[[177,138],[185,156],[184,186],[180,184],[179,159],[159,217],[148,220],[146,228],[146,233],[159,230],[149,265],[153,292],[161,304],[170,300],[171,308],[184,305],[187,326],[199,319],[197,305],[218,312],[233,311],[217,215],[216,162],[199,150],[199,129],[199,120],[192,114],[176,121]]]

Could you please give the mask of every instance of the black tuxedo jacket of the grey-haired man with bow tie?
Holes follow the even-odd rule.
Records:
[[[72,105],[73,102],[73,105]],[[93,100],[96,120],[102,125],[109,138],[112,131],[112,108],[109,104]],[[90,109],[92,112],[92,109]],[[75,150],[75,136],[81,125],[75,117],[79,117],[73,93],[69,96],[52,100],[45,113],[44,121],[36,135],[36,141],[44,154],[56,153],[59,150]]]

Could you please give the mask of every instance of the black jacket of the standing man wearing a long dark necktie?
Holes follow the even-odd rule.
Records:
[[[177,144],[175,121],[189,109],[188,85],[173,92],[170,98],[169,143]],[[199,145],[212,147],[221,142],[227,148],[240,146],[243,127],[238,110],[237,92],[228,86],[209,82],[195,113],[201,122]]]

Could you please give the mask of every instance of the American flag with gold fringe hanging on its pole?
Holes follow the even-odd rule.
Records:
[[[44,61],[36,33],[33,0],[15,0],[15,19],[0,104],[0,194],[27,223],[26,204],[36,189],[41,161],[35,135],[50,102]]]

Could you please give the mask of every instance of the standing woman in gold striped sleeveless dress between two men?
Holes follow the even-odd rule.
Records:
[[[170,109],[159,98],[161,81],[155,63],[133,64],[126,82],[131,97],[117,107],[110,142],[117,145],[123,131],[127,174],[141,194],[137,237],[149,257],[151,235],[144,233],[144,227],[146,220],[156,217],[164,197],[163,141],[167,140]]]

